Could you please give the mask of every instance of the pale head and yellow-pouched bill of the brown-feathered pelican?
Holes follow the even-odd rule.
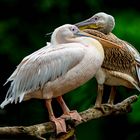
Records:
[[[111,32],[115,26],[115,19],[113,16],[104,12],[99,12],[91,18],[75,24],[79,29],[95,29],[105,34]]]

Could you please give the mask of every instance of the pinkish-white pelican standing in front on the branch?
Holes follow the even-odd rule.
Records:
[[[44,99],[49,118],[56,124],[57,133],[61,133],[66,132],[65,117],[81,121],[80,115],[66,106],[62,95],[94,77],[102,65],[104,51],[99,41],[86,37],[86,33],[70,24],[56,28],[47,44],[17,66],[7,80],[11,86],[0,106],[31,98]],[[59,118],[51,106],[53,98],[64,113]]]

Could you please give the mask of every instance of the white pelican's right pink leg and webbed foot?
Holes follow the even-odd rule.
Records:
[[[67,105],[65,104],[65,101],[63,100],[62,96],[57,97],[57,101],[59,102],[62,110],[63,110],[63,115],[61,118],[72,118],[73,120],[81,121],[82,118],[79,115],[79,113],[76,110],[70,111]]]

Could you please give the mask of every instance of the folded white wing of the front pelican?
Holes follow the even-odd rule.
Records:
[[[81,47],[82,46],[82,47]],[[9,102],[23,100],[26,93],[43,88],[48,81],[64,75],[84,57],[82,44],[69,43],[44,47],[25,57],[9,77],[11,86],[1,107]]]

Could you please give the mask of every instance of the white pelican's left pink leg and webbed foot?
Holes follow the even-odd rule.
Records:
[[[61,132],[66,132],[66,124],[65,119],[63,118],[56,118],[53,113],[52,105],[51,105],[52,99],[45,100],[46,107],[48,109],[49,118],[51,121],[53,121],[56,125],[56,132],[57,134]]]

